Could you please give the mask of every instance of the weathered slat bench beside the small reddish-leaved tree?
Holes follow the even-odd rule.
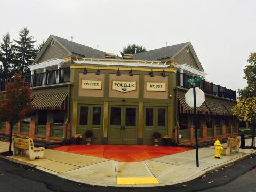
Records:
[[[22,139],[12,137],[13,155],[17,156],[19,153],[26,155],[29,150],[29,159],[35,160],[36,157],[44,158],[44,147],[34,147],[33,139]]]

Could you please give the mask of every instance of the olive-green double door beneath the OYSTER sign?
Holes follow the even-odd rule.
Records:
[[[93,143],[101,143],[102,137],[102,105],[78,106],[77,133],[83,134],[87,130],[93,132]]]

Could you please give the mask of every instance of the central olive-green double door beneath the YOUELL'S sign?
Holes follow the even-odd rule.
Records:
[[[127,145],[137,144],[137,106],[109,106],[108,122],[108,143]]]

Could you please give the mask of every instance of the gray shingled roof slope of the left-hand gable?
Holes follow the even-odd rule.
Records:
[[[105,58],[105,52],[93,49],[89,46],[81,45],[79,43],[71,42],[67,39],[52,35],[58,42],[60,42],[63,46],[66,47],[71,53],[82,55],[86,58]]]

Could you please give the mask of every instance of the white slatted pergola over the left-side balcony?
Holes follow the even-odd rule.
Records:
[[[30,65],[29,69],[31,70],[31,74],[34,74],[34,71],[37,70],[37,69],[44,69],[44,72],[45,72],[47,67],[58,66],[58,69],[59,69],[61,67],[61,65],[65,62],[66,61],[64,61],[62,59],[55,58],[55,59],[52,59],[52,60],[39,62],[39,63],[35,63],[33,65]]]

